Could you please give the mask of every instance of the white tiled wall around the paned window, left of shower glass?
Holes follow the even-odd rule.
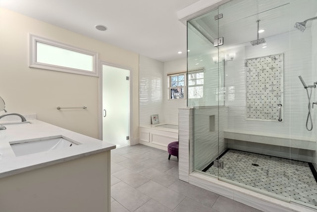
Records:
[[[167,74],[187,71],[187,59],[170,61],[164,63],[163,74],[163,109],[165,123],[178,125],[178,108],[187,106],[186,99],[168,99]]]

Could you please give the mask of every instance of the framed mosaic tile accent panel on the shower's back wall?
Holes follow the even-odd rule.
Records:
[[[283,54],[246,61],[246,119],[278,121],[283,105]]]

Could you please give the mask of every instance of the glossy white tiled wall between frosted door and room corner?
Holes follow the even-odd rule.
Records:
[[[139,124],[151,123],[151,115],[159,114],[159,122],[164,122],[163,110],[163,70],[164,64],[151,58],[140,56],[139,78]]]

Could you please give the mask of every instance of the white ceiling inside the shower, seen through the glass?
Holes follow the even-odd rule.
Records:
[[[245,9],[248,8],[248,9]],[[305,11],[305,12],[303,12]],[[223,17],[214,20],[214,16],[223,13]],[[230,14],[230,15],[228,15]],[[251,46],[250,41],[257,39],[257,20],[259,28],[265,31],[260,38],[301,31],[294,27],[296,22],[317,16],[317,0],[235,0],[230,1],[199,17],[190,20],[188,36],[190,55],[199,55],[217,51],[213,47],[215,38],[224,37],[221,49],[232,49],[236,45]],[[310,33],[312,21],[304,33]],[[270,45],[266,42],[267,45]]]

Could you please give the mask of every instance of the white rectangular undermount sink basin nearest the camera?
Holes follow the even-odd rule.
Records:
[[[37,138],[31,140],[9,142],[16,156],[34,154],[54,149],[67,148],[81,143],[72,141],[63,136]]]

